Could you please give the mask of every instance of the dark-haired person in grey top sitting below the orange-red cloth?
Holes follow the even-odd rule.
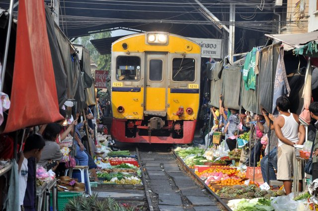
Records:
[[[38,164],[45,167],[47,170],[55,170],[63,158],[61,148],[56,142],[60,131],[61,126],[58,123],[50,123],[43,132],[45,146]]]

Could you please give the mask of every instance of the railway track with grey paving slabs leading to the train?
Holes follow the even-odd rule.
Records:
[[[231,211],[170,148],[140,145],[136,154],[149,211]]]

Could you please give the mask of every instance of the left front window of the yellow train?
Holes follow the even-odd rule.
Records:
[[[135,56],[119,56],[116,61],[117,80],[139,80],[140,58]]]

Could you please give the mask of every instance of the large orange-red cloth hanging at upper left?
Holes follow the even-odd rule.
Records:
[[[20,0],[11,107],[4,133],[63,119],[59,113],[43,0]]]

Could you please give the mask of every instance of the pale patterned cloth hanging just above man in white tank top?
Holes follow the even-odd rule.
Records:
[[[280,47],[276,74],[275,74],[275,82],[274,82],[274,94],[273,94],[273,107],[272,111],[275,113],[276,109],[276,100],[281,96],[289,96],[290,87],[286,75],[285,63],[284,63],[284,48]]]

